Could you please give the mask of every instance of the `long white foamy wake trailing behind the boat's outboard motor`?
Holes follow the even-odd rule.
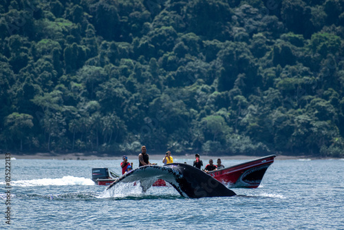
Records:
[[[4,182],[0,182],[0,185]],[[33,187],[33,186],[48,186],[48,185],[95,185],[89,178],[75,177],[75,176],[63,176],[63,178],[43,178],[36,180],[14,180],[11,181],[12,186],[19,187]]]

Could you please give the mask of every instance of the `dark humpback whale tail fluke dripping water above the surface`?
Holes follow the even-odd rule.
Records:
[[[140,181],[142,191],[147,191],[158,179],[169,182],[185,198],[236,195],[234,191],[228,189],[221,182],[215,180],[200,169],[182,163],[138,167],[120,176],[120,178],[107,187],[107,190],[119,182]]]

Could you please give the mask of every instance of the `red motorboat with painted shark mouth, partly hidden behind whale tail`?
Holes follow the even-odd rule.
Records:
[[[222,182],[229,188],[250,188],[259,187],[263,180],[266,169],[274,163],[276,155],[264,156],[245,163],[210,171],[207,174]],[[172,163],[173,164],[173,163]],[[119,176],[108,168],[92,169],[92,180],[96,185],[111,185]],[[169,183],[158,179],[153,187],[167,187]]]

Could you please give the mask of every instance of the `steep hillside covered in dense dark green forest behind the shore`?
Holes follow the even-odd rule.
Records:
[[[344,156],[342,0],[2,0],[0,149]]]

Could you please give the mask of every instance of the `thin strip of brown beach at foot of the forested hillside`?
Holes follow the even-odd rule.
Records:
[[[129,159],[138,158],[137,155],[127,155]],[[172,155],[173,156],[173,155]],[[267,155],[268,156],[268,155]],[[52,153],[36,153],[36,154],[14,154],[10,153],[11,158],[17,160],[122,160],[121,156],[113,156],[109,154],[92,154],[92,153],[72,153],[72,154],[52,154]],[[261,158],[263,156],[246,156],[246,155],[235,155],[235,156],[209,156],[202,155],[202,160],[210,158],[221,158],[223,160],[252,160],[256,158]],[[6,153],[0,154],[0,159],[5,159]],[[164,158],[163,154],[149,154],[151,160],[160,160]],[[173,158],[186,158],[193,159],[195,156],[193,154],[186,155],[174,155]],[[277,155],[275,160],[297,160],[297,159],[310,159],[310,160],[320,160],[320,159],[331,159],[331,158],[316,158],[314,156],[286,156]],[[336,158],[334,158],[336,159]]]

